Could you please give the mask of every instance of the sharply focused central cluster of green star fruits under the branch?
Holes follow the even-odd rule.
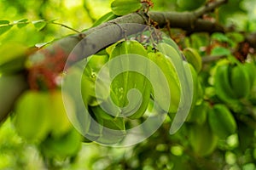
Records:
[[[128,55],[141,56],[150,60],[151,64],[150,62],[131,62],[128,60]],[[112,65],[112,59],[116,59],[119,56],[127,56],[127,58],[126,60],[119,60],[118,64]],[[160,68],[160,72],[150,70],[153,63]],[[108,88],[104,87],[104,80],[98,77],[100,68],[106,64],[108,64],[108,72],[105,74],[109,77],[114,77],[117,70],[125,70],[131,67],[140,68],[141,72],[121,72],[113,78],[108,95],[106,93]],[[150,103],[153,100],[160,106],[160,110],[168,112],[173,118],[178,107],[183,107],[182,103],[184,102],[181,102],[183,87],[177,75],[177,70],[182,72],[183,79],[190,77],[193,81],[192,86],[195,87],[193,88],[193,94],[195,95],[193,95],[192,105],[195,105],[198,97],[197,91],[200,87],[197,81],[197,73],[192,65],[183,61],[176,44],[172,41],[159,42],[152,48],[148,44],[144,47],[141,42],[126,40],[117,42],[102,50],[99,54],[90,56],[82,79],[82,96],[90,115],[99,123],[99,127],[96,128],[97,130],[94,133],[88,134],[89,140],[87,140],[104,140],[105,144],[119,142],[125,136],[125,129],[131,128],[129,120],[144,120],[147,118],[148,115],[145,115],[145,113],[150,110]],[[153,84],[143,73],[154,77],[154,82],[156,82],[154,87],[152,87]],[[160,74],[163,74],[166,78],[166,87],[164,86],[165,83],[162,82],[163,80],[159,77]],[[96,81],[99,81],[102,87],[98,88],[97,92],[95,88]],[[134,96],[129,94],[134,88],[141,94],[141,98],[134,98]],[[160,96],[159,99],[155,98],[155,93]],[[96,94],[98,95],[96,96]],[[166,103],[170,103],[170,105],[166,106]],[[104,106],[103,109],[101,108],[102,105]],[[102,132],[104,130],[102,126],[119,131],[114,136],[102,139],[104,133]]]

